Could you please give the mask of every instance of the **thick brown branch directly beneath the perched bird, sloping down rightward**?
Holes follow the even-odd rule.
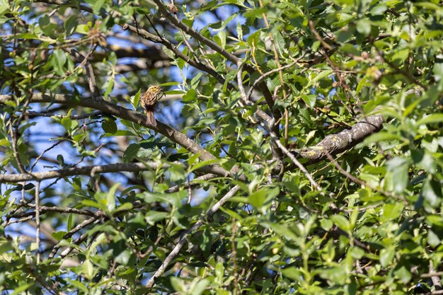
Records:
[[[4,103],[7,100],[11,100],[11,96],[0,96],[0,103]],[[45,94],[45,93],[33,93],[30,103],[60,103],[64,105],[81,105],[86,108],[93,108],[100,110],[109,115],[115,115],[122,119],[137,123],[144,127],[153,129],[156,132],[163,134],[164,136],[171,139],[171,141],[180,144],[185,149],[190,151],[192,154],[198,154],[202,161],[212,160],[216,157],[210,154],[208,151],[203,149],[201,146],[192,141],[185,134],[178,132],[176,129],[157,121],[157,126],[153,127],[151,125],[146,125],[146,116],[140,114],[139,112],[134,112],[133,110],[128,110],[127,108],[122,108],[120,105],[115,105],[113,103],[108,103],[107,101],[100,98],[79,98],[74,96],[65,96],[62,94]]]

